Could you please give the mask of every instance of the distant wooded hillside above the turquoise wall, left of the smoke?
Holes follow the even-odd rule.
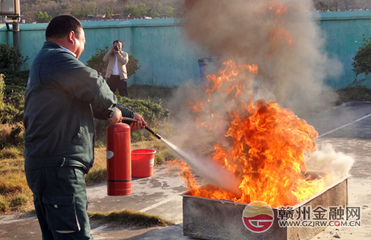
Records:
[[[61,14],[106,18],[130,13],[130,17],[181,17],[183,0],[20,0],[21,14],[28,20],[49,22]]]

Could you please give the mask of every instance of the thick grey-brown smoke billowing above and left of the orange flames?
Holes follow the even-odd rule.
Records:
[[[211,65],[223,69],[222,63],[229,60],[256,64],[258,73],[245,72],[236,77],[236,82],[244,84],[238,100],[234,98],[236,89],[232,93],[226,91],[232,83],[223,84],[213,93],[208,108],[197,114],[192,114],[192,105],[185,103],[205,102],[209,95],[197,84],[180,87],[173,101],[179,111],[173,114],[174,122],[182,133],[176,139],[178,146],[197,149],[201,145],[212,147],[212,142],[227,146],[227,112],[241,100],[248,103],[264,98],[268,103],[274,101],[291,109],[299,117],[335,101],[335,93],[324,80],[340,75],[342,66],[324,50],[325,38],[314,20],[317,13],[312,0],[186,2],[185,37],[191,45],[207,52],[204,57],[220,57]],[[222,121],[215,123],[215,119]],[[200,128],[201,121],[212,125]]]

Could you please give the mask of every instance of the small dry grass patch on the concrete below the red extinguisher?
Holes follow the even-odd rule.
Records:
[[[123,211],[112,211],[109,213],[88,212],[88,215],[90,220],[93,220],[99,224],[109,224],[123,227],[165,227],[175,224],[174,222],[165,220],[160,216],[151,215],[148,213],[140,213],[128,209]]]

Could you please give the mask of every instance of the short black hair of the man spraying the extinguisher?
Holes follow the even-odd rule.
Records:
[[[82,25],[76,17],[70,15],[60,15],[54,17],[52,21],[47,25],[45,31],[45,37],[49,38],[63,38],[66,34],[74,31],[76,37],[79,37],[79,33],[82,30]]]

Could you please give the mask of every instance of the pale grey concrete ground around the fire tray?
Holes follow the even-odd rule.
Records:
[[[348,103],[305,120],[319,132],[318,145],[331,143],[355,159],[348,182],[349,206],[362,207],[362,227],[328,227],[313,239],[371,239],[371,103]],[[176,225],[169,227],[110,227],[91,223],[94,239],[192,239],[183,237],[182,197],[185,183],[156,167],[152,177],[133,179],[132,195],[107,196],[105,183],[87,189],[89,211],[131,209],[156,214]],[[0,216],[0,239],[41,239],[38,220]]]

